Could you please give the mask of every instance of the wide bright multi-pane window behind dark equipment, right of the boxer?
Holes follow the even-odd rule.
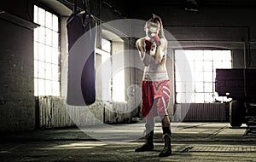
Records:
[[[177,103],[213,102],[216,68],[231,68],[230,50],[175,50]],[[218,100],[224,100],[218,98]]]

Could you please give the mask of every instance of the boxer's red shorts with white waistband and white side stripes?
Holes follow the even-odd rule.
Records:
[[[167,72],[146,73],[142,82],[143,90],[143,118],[168,115],[170,101],[170,80]]]

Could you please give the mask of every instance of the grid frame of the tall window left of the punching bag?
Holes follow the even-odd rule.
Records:
[[[42,26],[44,28],[44,35],[45,35],[45,31],[48,30],[50,33],[51,33],[51,41],[52,43],[47,43],[45,40],[44,40],[44,43],[40,42],[39,40],[36,40],[35,39],[35,32],[37,32],[39,29],[35,29],[34,31],[34,95],[35,96],[40,96],[40,95],[54,95],[54,96],[60,96],[61,95],[61,16],[59,14],[56,14],[52,9],[49,9],[47,8],[46,6],[42,5],[41,3],[35,3],[34,4],[34,7],[33,7],[33,13],[35,13],[35,9],[44,9],[44,13],[48,12],[50,13],[51,15],[51,28],[49,28],[45,23],[44,25],[41,25],[37,22],[35,23],[38,23],[40,26]],[[54,28],[54,17],[53,15],[55,15],[55,17],[57,18],[58,22],[57,22],[57,28]],[[36,15],[34,15],[36,16]],[[46,14],[44,15],[46,16]],[[33,21],[35,21],[35,17],[33,18]],[[39,27],[38,27],[39,28]],[[56,30],[55,30],[56,29]],[[38,32],[39,33],[39,32]],[[54,45],[54,37],[53,35],[57,34],[57,45],[55,46]],[[39,34],[38,34],[39,35]],[[45,38],[45,36],[44,36]],[[36,45],[38,44],[39,45],[42,45],[42,47],[44,47],[44,50],[49,48],[49,50],[51,50],[51,52],[53,52],[53,50],[55,50],[55,55],[56,55],[56,58],[55,58],[55,62],[52,61],[53,59],[53,53],[51,53],[51,61],[46,61],[47,57],[46,54],[45,54],[45,51],[44,51],[44,60],[40,61],[38,58],[35,58],[36,57],[36,53],[35,53],[35,50],[38,49],[38,47],[36,47]],[[38,50],[38,53],[39,53],[39,50]],[[38,57],[39,57],[39,54],[38,54]],[[44,77],[39,77],[36,75],[36,71],[38,70],[38,67],[36,67],[39,63],[39,62],[43,62],[42,65],[44,64],[44,72],[46,70],[46,65],[50,65],[51,66],[51,77],[50,78],[46,78],[45,74],[44,74]],[[53,68],[55,67],[55,69],[57,69],[57,72],[53,72]],[[37,71],[39,72],[39,70]],[[57,76],[53,76],[55,73],[55,75]],[[39,80],[42,81],[42,83],[44,82],[44,93],[40,94],[40,91],[38,89],[38,87],[40,86],[38,83],[39,83]],[[37,83],[36,83],[37,82]],[[51,84],[51,88],[50,88],[50,92],[47,93],[47,90],[45,88],[45,84],[49,82]],[[58,86],[57,88],[57,92],[55,92],[55,85]],[[37,89],[37,90],[36,90]]]

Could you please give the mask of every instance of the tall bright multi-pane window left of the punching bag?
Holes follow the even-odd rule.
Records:
[[[34,6],[34,95],[60,95],[59,18]]]

